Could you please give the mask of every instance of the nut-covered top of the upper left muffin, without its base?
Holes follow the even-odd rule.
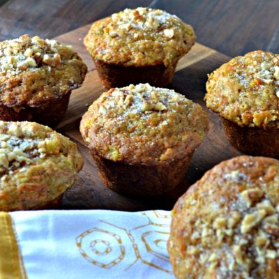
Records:
[[[36,107],[79,87],[87,67],[70,45],[28,35],[0,43],[0,103]]]

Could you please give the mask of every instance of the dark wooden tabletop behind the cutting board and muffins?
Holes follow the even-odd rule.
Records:
[[[152,6],[192,24],[197,41],[229,56],[279,52],[278,0],[0,0],[0,39],[52,38],[123,8]]]

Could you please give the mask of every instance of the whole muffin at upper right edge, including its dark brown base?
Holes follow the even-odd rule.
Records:
[[[255,51],[209,75],[206,105],[223,120],[225,135],[240,151],[279,156],[279,55]]]

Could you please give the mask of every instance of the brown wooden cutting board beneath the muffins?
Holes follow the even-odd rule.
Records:
[[[90,24],[80,29],[65,33],[56,40],[73,45],[89,67],[84,84],[73,91],[68,111],[58,130],[78,144],[84,157],[84,167],[73,188],[69,189],[61,204],[61,209],[114,209],[121,211],[140,211],[148,209],[172,209],[172,206],[187,188],[202,177],[204,172],[223,160],[238,156],[236,151],[223,135],[223,128],[218,116],[209,112],[210,131],[202,145],[195,151],[192,163],[183,183],[167,195],[158,197],[126,197],[105,187],[98,177],[95,164],[80,136],[80,117],[93,100],[96,100],[106,89],[100,83],[91,57],[86,52],[82,40],[89,30]],[[195,44],[184,56],[176,68],[174,80],[170,88],[184,94],[190,100],[204,105],[205,82],[207,74],[229,60],[229,56],[220,54],[204,45]]]

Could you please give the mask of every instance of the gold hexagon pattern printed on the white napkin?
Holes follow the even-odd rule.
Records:
[[[139,224],[133,229],[127,229],[126,227],[100,220],[101,223],[107,225],[107,229],[93,227],[86,229],[85,232],[77,236],[76,244],[80,254],[91,264],[103,269],[110,269],[125,259],[126,246],[132,245],[135,252],[135,260],[133,264],[126,266],[124,270],[130,269],[131,266],[140,261],[142,264],[172,274],[171,269],[163,267],[166,266],[165,262],[169,262],[169,257],[163,252],[169,237],[169,225],[163,223],[162,219],[170,218],[170,216],[163,215],[160,211],[150,211],[148,214],[142,212],[142,215],[146,217],[146,223]],[[140,238],[137,237],[136,239],[133,233],[135,231],[140,232]],[[128,236],[130,243],[123,241],[121,237],[123,234]],[[149,262],[144,257],[148,253],[156,258],[156,262]]]

